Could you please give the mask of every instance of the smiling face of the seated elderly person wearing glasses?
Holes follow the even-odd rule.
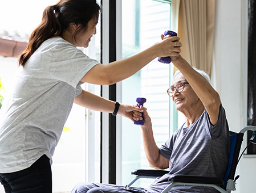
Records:
[[[172,86],[176,86],[178,83],[188,82],[182,74],[178,74],[177,77],[173,79]],[[198,96],[192,89],[189,84],[184,85],[184,90],[181,93],[178,93],[176,90],[173,93],[172,100],[175,103],[176,110],[185,112],[193,111],[193,108],[196,106]]]

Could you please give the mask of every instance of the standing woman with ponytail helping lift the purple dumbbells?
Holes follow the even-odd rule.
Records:
[[[50,161],[73,102],[129,119],[141,112],[82,90],[81,83],[112,85],[156,57],[181,52],[179,38],[170,37],[125,60],[99,64],[76,48],[88,47],[99,12],[96,0],[47,7],[19,57],[13,93],[0,111],[0,181],[6,192],[51,192]]]

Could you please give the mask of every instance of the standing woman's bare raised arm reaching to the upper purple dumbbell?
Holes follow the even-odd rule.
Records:
[[[156,57],[178,56],[181,49],[174,47],[173,41],[176,40],[178,37],[170,37],[134,56],[107,65],[96,65],[84,75],[82,81],[98,85],[112,85],[122,81],[138,72]]]

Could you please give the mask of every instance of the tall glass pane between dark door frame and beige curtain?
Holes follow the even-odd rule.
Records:
[[[123,58],[143,51],[161,41],[160,35],[170,29],[170,4],[151,0],[123,1]],[[140,72],[122,82],[122,103],[136,104],[144,97],[153,124],[158,146],[169,138],[169,64],[153,60]],[[143,149],[141,129],[130,120],[122,120],[122,184],[128,183],[133,169],[147,169],[148,161]],[[140,181],[137,186],[144,186]]]

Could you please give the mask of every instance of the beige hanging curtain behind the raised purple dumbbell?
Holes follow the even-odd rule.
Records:
[[[215,0],[172,0],[172,28],[189,64],[211,75]]]

